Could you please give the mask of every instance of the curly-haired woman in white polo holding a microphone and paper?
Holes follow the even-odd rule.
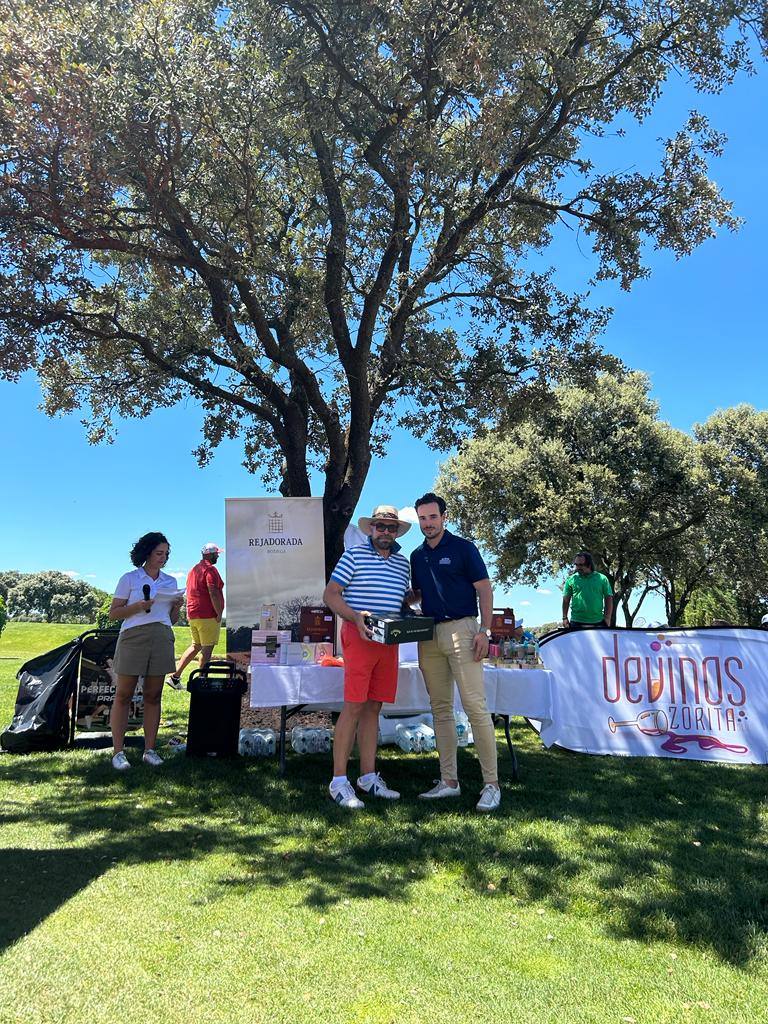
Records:
[[[163,534],[140,537],[131,550],[131,561],[136,568],[120,578],[110,607],[110,618],[123,621],[113,665],[118,683],[110,717],[115,748],[112,764],[118,771],[131,766],[123,744],[139,676],[144,677],[143,760],[153,768],[163,763],[155,750],[160,697],[166,675],[176,668],[171,627],[184,599],[183,594],[178,594],[175,579],[163,572],[170,550]]]

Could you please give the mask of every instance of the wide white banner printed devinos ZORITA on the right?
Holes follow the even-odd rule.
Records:
[[[555,675],[548,746],[768,763],[768,631],[580,630],[541,656]]]

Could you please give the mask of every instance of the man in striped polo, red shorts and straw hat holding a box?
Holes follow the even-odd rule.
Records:
[[[357,525],[369,535],[366,544],[349,548],[339,559],[323,600],[344,620],[344,708],[334,730],[334,777],[329,792],[340,807],[365,806],[347,778],[347,763],[355,735],[360,755],[357,788],[372,797],[399,799],[376,771],[379,712],[397,691],[397,645],[372,640],[366,615],[399,615],[409,590],[411,566],[399,554],[397,538],[411,529],[393,505],[379,505]]]

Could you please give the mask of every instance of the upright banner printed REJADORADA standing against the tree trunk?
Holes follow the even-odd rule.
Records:
[[[290,628],[325,586],[322,498],[226,499],[227,653],[250,655],[252,630]]]

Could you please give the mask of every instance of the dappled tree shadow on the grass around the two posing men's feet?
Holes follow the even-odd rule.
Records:
[[[313,907],[406,900],[415,883],[445,871],[484,898],[546,904],[616,938],[709,948],[739,966],[765,957],[764,769],[547,752],[522,727],[515,740],[524,782],[505,784],[492,817],[474,812],[481,780],[469,752],[450,807],[416,800],[434,758],[386,752],[382,771],[402,800],[369,800],[357,814],[328,800],[323,757],[292,759],[286,778],[265,762],[177,758],[118,776],[105,757],[3,759],[14,796],[29,801],[6,804],[0,821],[52,827],[62,848],[5,852],[0,877],[11,886],[34,888],[35,857],[50,861],[44,893],[18,920],[0,919],[0,945],[114,863],[216,851],[233,867],[211,883],[210,900],[264,885],[295,886]],[[500,768],[509,771],[506,758]]]

